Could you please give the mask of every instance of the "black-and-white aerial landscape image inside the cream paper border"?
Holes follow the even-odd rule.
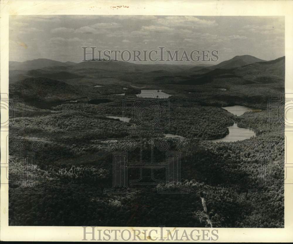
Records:
[[[10,13],[7,33],[9,227],[284,229],[285,16]]]

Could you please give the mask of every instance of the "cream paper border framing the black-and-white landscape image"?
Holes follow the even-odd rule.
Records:
[[[293,1],[39,1],[4,0],[0,3],[0,91],[8,94],[9,60],[9,15],[180,15],[180,16],[285,16],[285,93],[293,99]],[[1,123],[7,121],[8,110],[1,110]],[[293,120],[292,118],[288,118]],[[1,164],[6,164],[8,128],[1,128]],[[285,127],[285,164],[293,161],[293,129]],[[8,226],[8,179],[6,169],[1,168],[0,189],[0,240],[2,241],[85,241],[81,226]],[[163,229],[178,229],[178,236],[184,230],[218,230],[217,240],[209,242],[291,242],[293,241],[293,169],[286,167],[285,179],[285,227],[284,228],[180,228],[178,226]],[[38,203],[36,203],[38,204]],[[171,213],[170,213],[171,214]],[[155,227],[99,227],[99,229],[121,230],[155,229],[151,238],[145,242],[160,241],[161,228]],[[114,233],[109,241],[125,241]],[[157,239],[155,240],[155,238]],[[93,241],[88,237],[88,241]],[[99,240],[95,240],[99,241]],[[101,241],[101,240],[100,240]],[[130,239],[128,242],[133,242]],[[139,240],[137,240],[139,241]],[[193,240],[184,240],[193,242]],[[198,240],[202,241],[202,240]],[[180,240],[164,240],[180,242]]]

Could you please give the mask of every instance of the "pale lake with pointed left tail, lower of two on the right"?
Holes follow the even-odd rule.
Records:
[[[251,129],[246,129],[246,128],[240,128],[237,126],[236,123],[234,123],[231,126],[228,126],[229,129],[229,134],[226,135],[223,138],[219,139],[210,139],[207,141],[210,142],[236,142],[236,141],[241,141],[245,139],[249,139],[252,136],[255,136],[255,133]]]

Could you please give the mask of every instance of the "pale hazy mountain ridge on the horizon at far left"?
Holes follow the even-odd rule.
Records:
[[[75,64],[73,62],[59,62],[46,58],[38,58],[24,62],[9,61],[9,70],[35,70],[50,66],[69,66]]]

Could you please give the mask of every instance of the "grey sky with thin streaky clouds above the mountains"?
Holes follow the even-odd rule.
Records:
[[[283,16],[11,15],[9,60],[81,62],[97,50],[218,50],[219,60],[285,55]],[[90,51],[90,50],[88,50]],[[184,62],[184,64],[198,64]]]

